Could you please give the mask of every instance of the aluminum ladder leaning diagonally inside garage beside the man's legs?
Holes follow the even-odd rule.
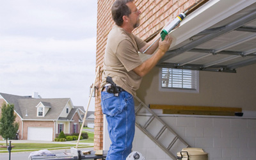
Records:
[[[190,147],[159,116],[138,97],[134,97],[136,126],[156,143],[168,156],[177,159],[177,152]]]

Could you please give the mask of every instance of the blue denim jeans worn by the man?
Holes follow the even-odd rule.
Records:
[[[108,121],[111,140],[107,160],[125,160],[131,153],[135,132],[134,99],[128,92],[101,92],[102,112]]]

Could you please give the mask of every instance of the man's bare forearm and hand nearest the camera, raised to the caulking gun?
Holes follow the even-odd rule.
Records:
[[[159,44],[159,49],[157,50],[156,54],[144,61],[138,67],[134,68],[133,71],[141,77],[145,76],[153,67],[156,66],[157,62],[164,56],[165,52],[168,51],[171,43],[172,38],[169,35],[166,36],[163,41],[156,43],[157,46]]]

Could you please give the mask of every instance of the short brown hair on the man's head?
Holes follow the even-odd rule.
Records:
[[[115,21],[117,26],[122,26],[124,20],[124,15],[131,14],[130,8],[126,5],[129,2],[133,2],[134,0],[116,0],[111,8],[112,19]]]

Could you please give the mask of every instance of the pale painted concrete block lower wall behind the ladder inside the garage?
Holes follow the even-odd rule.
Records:
[[[161,116],[191,147],[203,148],[209,160],[253,160],[256,118]],[[172,159],[136,127],[132,150],[147,160]]]

